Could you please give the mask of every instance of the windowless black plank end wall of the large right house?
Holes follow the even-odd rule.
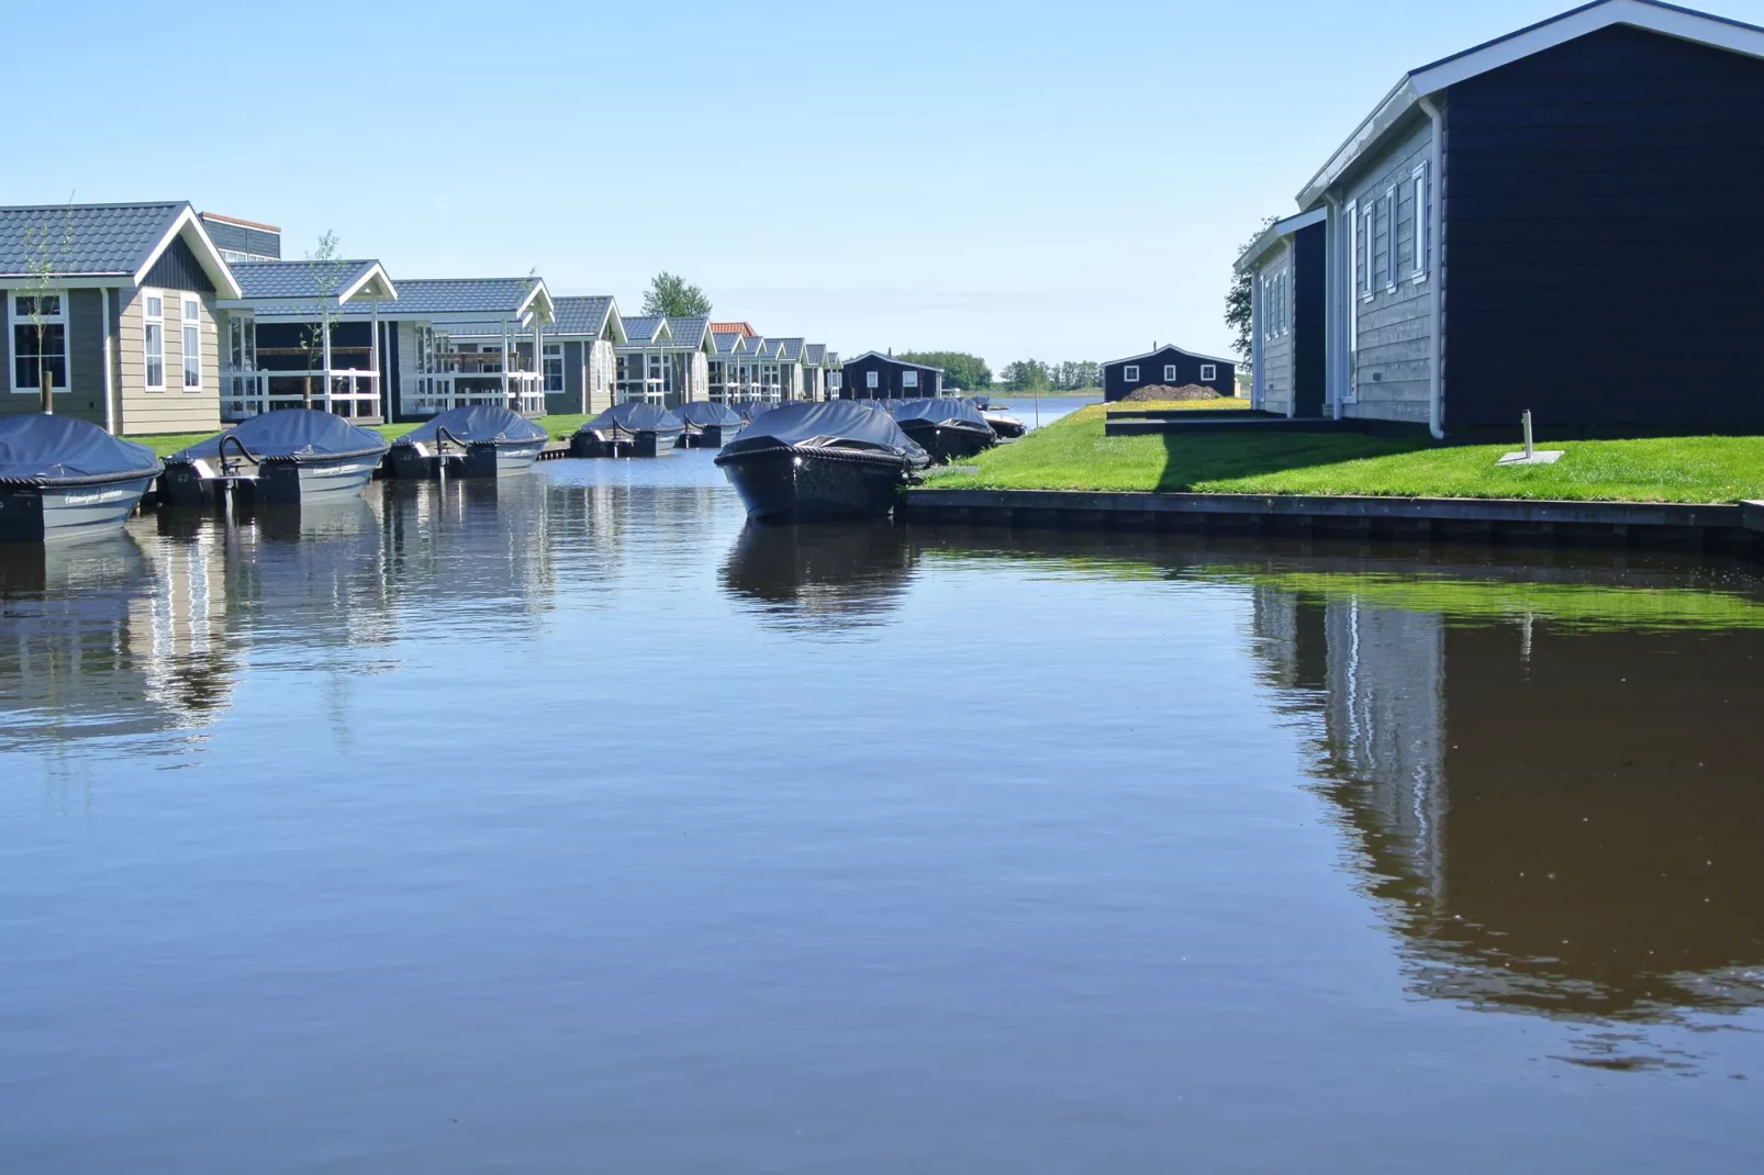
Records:
[[[1607,28],[1448,116],[1448,430],[1764,427],[1764,62]]]

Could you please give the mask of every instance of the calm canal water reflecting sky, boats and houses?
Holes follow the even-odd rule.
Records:
[[[1764,1164],[1738,565],[684,453],[0,575],[0,1170]]]

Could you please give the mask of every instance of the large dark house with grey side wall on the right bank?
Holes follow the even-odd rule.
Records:
[[[1258,393],[1434,436],[1764,429],[1764,270],[1718,231],[1764,205],[1760,125],[1764,28],[1655,0],[1409,71],[1238,259]]]

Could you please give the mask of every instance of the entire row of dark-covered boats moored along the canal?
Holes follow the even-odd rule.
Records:
[[[570,441],[575,457],[660,457],[720,448],[716,464],[759,520],[886,513],[894,492],[937,460],[970,457],[1023,425],[965,399],[725,406],[617,404]],[[72,416],[0,420],[0,542],[115,529],[157,480],[166,505],[235,492],[259,505],[360,494],[381,468],[397,478],[524,473],[550,438],[506,408],[441,413],[386,441],[342,416],[282,409],[252,416],[161,460],[153,450]]]

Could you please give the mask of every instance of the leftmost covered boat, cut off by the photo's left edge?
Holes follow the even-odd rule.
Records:
[[[164,466],[146,445],[74,416],[0,420],[0,542],[115,531]]]

